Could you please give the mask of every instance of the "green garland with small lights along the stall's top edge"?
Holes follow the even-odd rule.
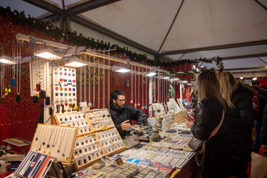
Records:
[[[60,41],[62,37],[67,38],[72,45],[75,46],[86,46],[87,48],[91,49],[97,49],[97,50],[107,50],[107,49],[115,49],[114,51],[111,51],[111,53],[120,53],[123,55],[128,56],[132,61],[136,63],[146,63],[148,66],[160,66],[161,68],[167,68],[167,70],[170,71],[171,74],[176,75],[182,75],[181,73],[177,73],[175,71],[172,71],[172,66],[180,66],[185,63],[199,63],[199,61],[202,61],[204,63],[212,63],[212,61],[206,60],[206,58],[202,59],[195,59],[195,60],[189,60],[189,59],[182,59],[182,60],[176,60],[174,62],[167,62],[162,60],[162,58],[159,59],[150,59],[147,58],[146,54],[138,54],[133,51],[130,51],[127,47],[120,47],[117,44],[111,45],[109,42],[104,41],[95,41],[95,38],[90,37],[84,37],[82,33],[77,33],[77,31],[70,31],[66,30],[63,31],[63,29],[58,28],[56,26],[53,26],[53,24],[48,23],[46,21],[42,21],[40,19],[35,19],[28,15],[28,18],[26,18],[24,11],[11,11],[10,7],[3,8],[0,6],[0,12],[3,14],[3,16],[8,19],[9,21],[12,21],[14,24],[18,24],[21,26],[28,26],[31,31],[37,29],[40,31],[43,31],[44,33],[47,33],[49,36],[52,36],[57,41]],[[11,19],[9,19],[11,17]],[[212,59],[215,59],[212,58]],[[221,58],[216,57],[216,65],[220,66],[220,63],[222,61]],[[196,62],[196,60],[198,62]],[[221,63],[221,68],[219,68],[220,72],[224,69],[224,65]],[[185,74],[189,74],[186,70],[183,70]]]

